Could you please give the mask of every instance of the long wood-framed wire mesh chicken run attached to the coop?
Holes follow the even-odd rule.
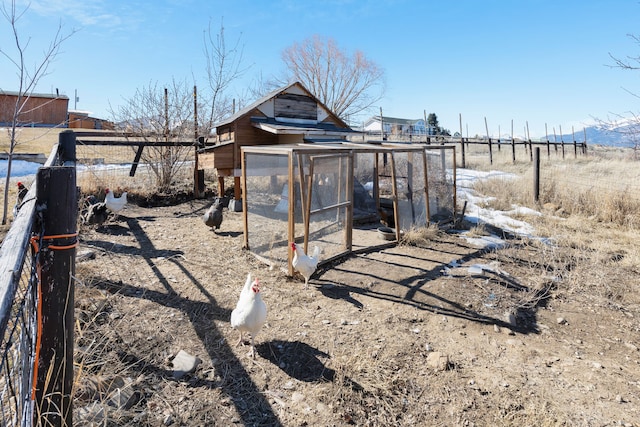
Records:
[[[456,212],[454,146],[243,146],[241,161],[244,247],[290,276],[291,242],[305,253],[320,247],[322,264],[396,244]]]

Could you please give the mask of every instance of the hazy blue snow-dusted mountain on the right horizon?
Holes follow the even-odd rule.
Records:
[[[633,147],[640,145],[640,123],[633,121],[625,121],[614,125],[595,125],[588,126],[584,130],[575,132],[577,142],[583,142],[587,139],[587,145],[608,145],[612,147]],[[556,136],[557,141],[565,143],[573,143],[572,134],[563,134]],[[542,138],[544,139],[544,138]],[[553,135],[549,135],[549,141],[554,142]]]

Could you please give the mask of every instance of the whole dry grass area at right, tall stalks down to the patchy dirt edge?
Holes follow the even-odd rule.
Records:
[[[494,157],[494,165],[475,166],[516,174],[515,179],[479,182],[475,190],[492,197],[488,205],[494,209],[520,205],[545,213],[526,218],[537,235],[553,242],[544,245],[541,253],[565,259],[567,265],[584,266],[564,273],[570,278],[564,291],[586,292],[616,304],[637,303],[622,279],[640,271],[636,243],[640,239],[640,168],[631,150],[591,147],[587,156],[578,158],[573,153],[564,160],[553,153],[550,158],[543,156],[539,202],[533,200],[529,162],[514,165],[509,152],[508,157]]]

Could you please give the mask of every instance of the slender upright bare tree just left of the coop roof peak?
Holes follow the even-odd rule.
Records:
[[[208,91],[205,97],[208,114],[201,121],[205,135],[209,135],[216,123],[233,113],[234,100],[230,95],[232,84],[246,72],[242,65],[241,36],[231,46],[227,45],[224,25],[214,35],[209,28],[204,32],[203,49],[206,60]],[[238,105],[242,100],[237,100]]]

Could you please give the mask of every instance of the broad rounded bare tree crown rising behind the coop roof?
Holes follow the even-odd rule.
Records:
[[[332,38],[315,35],[282,52],[287,80],[300,81],[331,111],[348,120],[382,99],[384,70],[363,52],[349,56]]]

